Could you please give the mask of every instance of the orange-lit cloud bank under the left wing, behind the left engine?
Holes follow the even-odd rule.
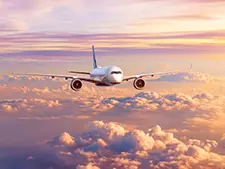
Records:
[[[47,86],[42,81],[47,81]],[[17,76],[17,75],[3,75],[0,76],[0,89],[10,93],[24,93],[29,97],[52,97],[61,98],[60,95],[67,96],[74,100],[85,100],[89,98],[99,98],[103,95],[126,95],[129,89],[121,89],[117,87],[110,88],[95,88],[93,84],[85,83],[79,92],[74,91],[70,87],[70,80],[66,81],[64,78],[51,77],[36,77],[36,76]],[[52,87],[54,86],[54,87]],[[33,94],[33,95],[31,95]]]

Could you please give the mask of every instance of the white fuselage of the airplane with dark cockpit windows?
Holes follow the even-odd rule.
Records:
[[[91,78],[101,80],[101,84],[111,86],[120,84],[123,81],[123,71],[117,66],[98,67],[90,73]]]

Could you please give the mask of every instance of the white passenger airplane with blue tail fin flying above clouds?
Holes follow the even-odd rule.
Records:
[[[179,71],[153,72],[153,73],[137,74],[132,76],[124,76],[122,69],[118,66],[100,67],[97,65],[94,45],[92,45],[92,54],[93,54],[93,70],[91,72],[68,71],[68,73],[70,74],[88,75],[89,77],[73,76],[73,75],[57,75],[57,74],[37,74],[37,73],[16,74],[16,75],[64,78],[66,80],[71,79],[70,87],[74,91],[79,91],[82,88],[83,81],[94,83],[96,86],[114,86],[129,80],[133,80],[133,86],[135,89],[142,90],[146,85],[146,82],[143,79],[144,77],[154,77],[155,75],[165,75],[179,72]]]

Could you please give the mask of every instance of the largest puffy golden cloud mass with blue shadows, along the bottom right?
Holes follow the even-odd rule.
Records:
[[[225,156],[215,140],[181,141],[159,125],[147,132],[94,121],[67,149],[77,168],[224,168]],[[65,144],[67,145],[67,144]],[[71,146],[71,145],[67,145]]]

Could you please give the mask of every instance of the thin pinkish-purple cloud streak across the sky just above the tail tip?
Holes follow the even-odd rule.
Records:
[[[208,31],[179,31],[179,32],[161,32],[161,33],[93,33],[93,34],[75,34],[68,32],[31,32],[31,33],[17,33],[11,35],[5,35],[1,37],[2,40],[11,43],[22,43],[32,42],[38,43],[40,40],[46,41],[49,39],[57,40],[59,42],[70,42],[74,44],[82,43],[85,44],[83,39],[91,41],[107,41],[109,43],[115,42],[115,40],[165,40],[165,39],[213,39],[220,36],[221,38],[225,37],[224,29],[208,30]],[[49,41],[48,41],[49,42]],[[53,41],[54,42],[54,41]],[[52,42],[52,43],[53,43]],[[127,41],[126,41],[127,42]],[[53,43],[54,44],[54,43]],[[106,46],[106,45],[104,45]],[[74,48],[74,46],[73,46]],[[84,49],[78,46],[75,46],[75,49]],[[86,46],[85,49],[89,49],[89,46]]]

